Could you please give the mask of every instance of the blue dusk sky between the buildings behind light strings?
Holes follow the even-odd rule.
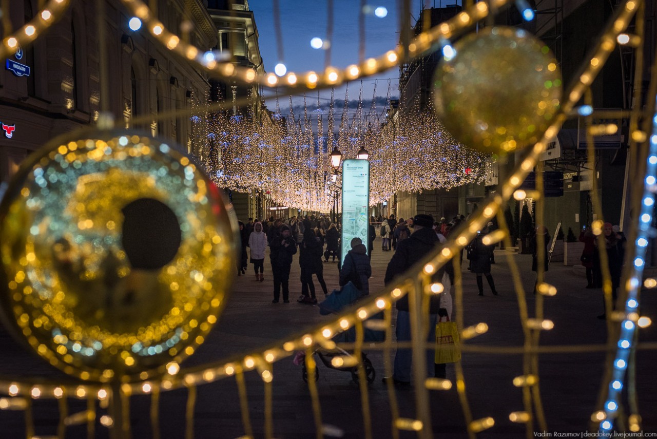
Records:
[[[307,70],[322,71],[325,66],[325,51],[313,49],[310,41],[313,37],[325,39],[327,36],[327,1],[325,0],[280,0],[281,30],[283,34],[283,59],[279,60],[277,39],[273,20],[272,0],[250,0],[249,9],[254,12],[258,34],[260,35],[260,53],[263,58],[265,70],[273,72],[278,62],[286,64],[288,71],[306,72]],[[331,65],[344,68],[359,61],[359,0],[334,0],[334,24],[331,41]],[[399,39],[399,2],[395,0],[368,0],[367,5],[373,10],[376,7],[385,7],[388,14],[378,18],[373,13],[365,16],[365,57],[378,57],[394,49]],[[440,6],[436,0],[435,6]],[[453,4],[454,0],[443,0],[442,5]],[[434,6],[434,1],[424,1],[426,7]],[[419,17],[422,0],[411,1],[411,24]],[[398,79],[399,68],[392,68],[387,72],[363,80],[363,106],[369,109],[374,91],[376,95],[385,98],[388,92],[388,78],[391,81],[392,97],[399,96]],[[361,81],[352,81],[349,85],[349,99],[358,99]],[[321,91],[321,102],[328,105],[330,89]],[[303,96],[303,93],[298,95]],[[335,90],[335,99],[344,99],[345,87]],[[317,91],[307,93],[309,108],[316,108]],[[288,97],[279,96],[281,112],[287,114]],[[303,101],[295,98],[296,105]],[[275,103],[267,101],[267,106],[273,110]],[[338,110],[336,108],[336,110]],[[383,110],[378,105],[378,110]],[[339,112],[342,109],[340,108]],[[339,113],[338,113],[339,114]]]

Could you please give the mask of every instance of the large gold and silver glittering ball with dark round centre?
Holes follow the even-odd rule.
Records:
[[[202,344],[234,271],[235,219],[189,158],[135,133],[33,154],[0,205],[0,303],[81,379],[164,373]]]

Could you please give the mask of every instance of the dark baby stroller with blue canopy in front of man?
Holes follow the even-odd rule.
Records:
[[[347,283],[347,285],[342,287],[342,289],[333,290],[331,294],[328,294],[326,300],[324,300],[324,302],[321,302],[321,304],[319,304],[319,313],[321,313],[321,315],[338,313],[343,308],[346,308],[347,306],[350,306],[351,304],[357,302],[357,300],[359,300],[361,296],[362,296],[361,292],[353,285],[353,283],[349,282]],[[383,319],[383,313],[374,315],[371,318]],[[373,329],[364,328],[363,341],[382,342],[384,340],[384,336],[385,333],[383,331],[374,331]],[[355,342],[356,330],[355,328],[351,327],[348,331],[344,331],[343,333],[334,336],[332,340],[338,344]],[[315,356],[315,358],[319,358],[319,360],[322,363],[324,363],[326,367],[330,369],[335,369],[337,371],[349,372],[351,373],[351,379],[353,380],[353,382],[357,383],[359,381],[357,366],[350,365],[350,366],[338,367],[332,364],[333,358],[351,357],[353,356],[351,352],[348,352],[336,346],[336,348],[332,350],[328,350],[325,348],[317,348],[315,352],[313,352],[313,355]],[[361,356],[362,356],[361,359],[363,361],[363,367],[365,368],[365,377],[367,377],[367,382],[373,382],[374,379],[376,378],[376,371],[374,370],[372,361],[370,361],[370,359],[367,358],[367,354],[365,354],[365,352],[362,352]],[[302,377],[305,382],[308,382],[306,361],[300,361],[300,362],[302,363],[302,367],[304,368]],[[319,379],[319,369],[315,368],[315,381],[317,381],[318,379]]]

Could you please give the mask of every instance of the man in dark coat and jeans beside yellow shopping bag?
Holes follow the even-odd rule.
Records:
[[[440,245],[438,236],[436,236],[436,233],[432,229],[434,225],[434,218],[432,216],[418,214],[413,218],[413,224],[413,233],[409,238],[404,239],[397,245],[397,251],[388,263],[386,277],[384,278],[384,283],[386,285],[388,285],[397,275],[404,273],[411,266],[415,265],[419,260],[424,258],[426,254],[436,250],[436,246]],[[436,278],[442,279],[442,276],[443,270],[441,269],[439,270],[439,273],[436,274]],[[440,294],[434,294],[431,297],[429,310],[429,333],[427,340],[430,343],[436,342],[436,323],[438,323],[439,312]],[[411,340],[411,313],[409,312],[408,294],[397,301],[396,336],[397,342]],[[427,350],[426,371],[428,375],[436,375],[436,372],[438,372],[439,375],[444,377],[443,368],[442,371],[434,370],[434,357],[434,350]],[[411,384],[412,359],[413,354],[410,349],[397,349],[394,373],[392,375],[395,384],[406,386]]]

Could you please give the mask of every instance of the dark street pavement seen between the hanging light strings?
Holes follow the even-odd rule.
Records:
[[[388,260],[393,252],[381,252],[380,240],[375,241],[371,292],[382,287]],[[475,277],[463,270],[464,325],[484,321],[489,331],[470,342],[482,346],[522,346],[523,336],[518,316],[518,301],[512,290],[512,279],[506,252],[496,250],[497,264],[493,266],[499,296],[492,296],[488,286],[485,295],[477,295]],[[534,273],[530,271],[531,257],[515,255],[524,287],[531,290]],[[290,304],[272,304],[272,281],[269,260],[265,262],[265,281],[254,281],[253,272],[236,277],[235,288],[229,298],[219,323],[185,365],[199,365],[215,359],[227,359],[248,352],[256,352],[287,335],[298,333],[309,325],[315,325],[327,317],[319,315],[316,306],[296,303],[300,294],[298,255],[295,256],[290,275]],[[465,265],[467,261],[465,261]],[[547,281],[558,288],[558,294],[545,298],[545,318],[555,327],[541,334],[541,344],[603,344],[606,325],[596,318],[602,312],[600,290],[584,289],[582,272],[573,267],[553,263],[547,273]],[[337,264],[324,264],[328,289],[338,286]],[[317,286],[318,298],[323,293]],[[533,315],[535,297],[528,296],[530,315]],[[642,309],[657,320],[657,298],[652,291],[644,292]],[[640,333],[641,342],[657,341],[657,325]],[[43,361],[35,358],[14,342],[0,329],[0,373],[49,375],[62,377]],[[376,381],[369,386],[369,402],[373,418],[373,437],[388,438],[390,433],[390,399],[386,385],[380,381],[384,375],[383,358],[373,351],[369,358],[376,368]],[[598,398],[604,353],[569,352],[542,354],[540,356],[540,391],[549,432],[582,432],[589,428],[589,420]],[[643,416],[643,430],[657,432],[657,380],[655,367],[657,351],[637,352],[637,392],[639,409]],[[478,435],[479,438],[521,438],[525,436],[523,425],[509,421],[509,413],[524,410],[522,391],[512,385],[512,379],[522,375],[522,355],[464,353],[463,368],[466,392],[474,419],[493,417],[495,426]],[[311,400],[307,386],[302,381],[302,368],[292,364],[291,358],[283,359],[274,366],[273,417],[274,434],[277,438],[311,438],[315,436]],[[447,367],[447,378],[454,380],[453,366]],[[263,437],[264,392],[255,372],[246,374],[250,422],[256,437]],[[344,432],[346,438],[363,437],[361,395],[349,373],[327,369],[319,365],[319,396],[322,420]],[[403,417],[414,417],[415,400],[412,388],[398,388],[396,392],[399,410]],[[185,428],[186,390],[162,394],[160,398],[160,426],[163,438],[182,438]],[[436,437],[465,438],[464,416],[455,388],[432,392],[431,411],[433,432]],[[82,410],[83,402],[72,402],[71,411]],[[37,401],[34,404],[37,434],[55,434],[57,406],[52,402]],[[131,424],[133,438],[150,437],[148,413],[150,399],[139,396],[131,400]],[[0,438],[24,437],[22,414],[0,411]],[[194,415],[196,438],[237,438],[244,435],[242,415],[233,379],[200,386]],[[97,426],[97,437],[106,437],[106,430]],[[66,437],[85,437],[85,430],[74,427]],[[402,432],[401,438],[415,434]]]

